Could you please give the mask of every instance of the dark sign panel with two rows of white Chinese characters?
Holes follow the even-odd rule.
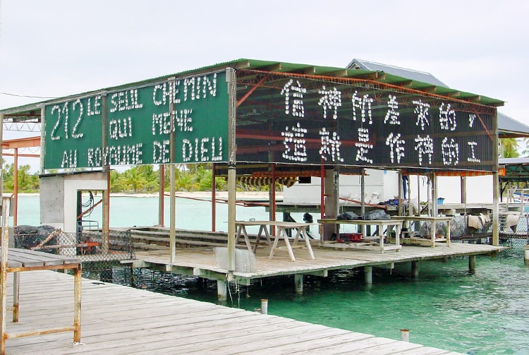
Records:
[[[245,132],[258,127],[259,140],[269,135],[267,149],[281,143],[273,148],[281,153],[273,155],[274,162],[494,170],[494,107],[382,85],[280,76],[270,80],[276,92],[269,94],[266,107],[252,109],[260,112],[257,122],[265,116],[273,119],[262,126],[248,119],[241,127]],[[241,139],[238,148],[248,143],[262,146]],[[241,160],[266,159],[264,154],[252,156],[250,148],[241,151]]]

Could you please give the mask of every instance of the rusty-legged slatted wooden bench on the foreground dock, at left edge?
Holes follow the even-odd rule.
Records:
[[[30,251],[27,249],[8,248],[9,243],[9,198],[1,199],[2,224],[1,224],[1,264],[0,264],[0,355],[6,354],[6,339],[31,337],[34,335],[47,335],[57,332],[73,332],[73,342],[81,341],[81,260],[68,258],[63,255]],[[62,327],[49,327],[39,330],[24,330],[21,332],[7,332],[6,313],[13,311],[13,323],[18,322],[19,309],[19,272],[34,270],[73,270],[73,325]],[[13,272],[13,306],[7,307],[7,274]]]

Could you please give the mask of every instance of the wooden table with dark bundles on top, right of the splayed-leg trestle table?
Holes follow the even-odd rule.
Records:
[[[400,234],[402,227],[402,219],[373,219],[371,221],[363,219],[355,220],[346,220],[346,219],[318,219],[318,223],[321,224],[338,224],[338,231],[340,230],[340,224],[355,224],[358,226],[377,226],[378,235],[377,236],[364,236],[363,241],[358,243],[348,243],[336,246],[335,243],[329,243],[329,241],[322,241],[322,246],[331,246],[334,248],[355,248],[355,249],[368,249],[368,250],[377,250],[381,253],[384,251],[399,251],[402,246],[400,244]],[[395,229],[395,243],[388,245],[384,243],[384,227],[387,227],[389,235],[390,229]]]

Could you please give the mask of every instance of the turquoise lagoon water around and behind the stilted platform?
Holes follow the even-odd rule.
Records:
[[[237,207],[238,219],[263,219],[263,207]],[[18,224],[39,224],[38,197],[20,196]],[[217,230],[227,229],[227,207],[217,205]],[[97,219],[95,210],[87,219]],[[176,224],[183,229],[210,229],[207,202],[177,199]],[[277,216],[278,219],[281,216]],[[315,216],[316,217],[316,216]],[[169,200],[166,200],[169,223]],[[301,220],[301,214],[295,215]],[[157,198],[111,199],[111,225],[157,224]],[[273,277],[251,287],[230,289],[229,306],[249,311],[268,299],[269,314],[339,327],[377,337],[400,339],[410,330],[411,342],[465,354],[529,354],[529,268],[514,251],[497,258],[478,256],[475,275],[468,259],[448,263],[423,262],[419,279],[409,263],[394,270],[375,269],[366,287],[361,270],[334,272],[327,278],[304,277],[303,295],[293,291],[293,279]],[[172,275],[161,279],[148,270],[135,270],[135,285],[176,296],[217,302],[214,282],[203,287],[193,279]]]

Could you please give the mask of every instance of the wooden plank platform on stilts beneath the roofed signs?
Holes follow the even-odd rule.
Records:
[[[329,270],[344,270],[355,267],[392,267],[394,263],[420,262],[421,260],[445,260],[448,258],[475,255],[491,255],[504,247],[472,243],[435,243],[435,247],[406,245],[400,251],[367,251],[354,248],[319,248],[317,241],[312,241],[315,259],[305,248],[294,251],[296,261],[291,261],[286,251],[276,251],[274,258],[269,259],[269,248],[262,244],[257,248],[254,271],[236,270],[233,277],[241,284],[250,284],[253,279],[277,275],[318,275],[326,277]],[[338,247],[339,245],[337,245]],[[169,262],[169,248],[157,246],[156,250],[136,251],[137,260],[127,263],[135,267],[148,267],[156,270],[170,271],[178,275],[192,275],[207,279],[226,279],[227,270],[217,263],[214,248],[177,248],[176,260]]]

